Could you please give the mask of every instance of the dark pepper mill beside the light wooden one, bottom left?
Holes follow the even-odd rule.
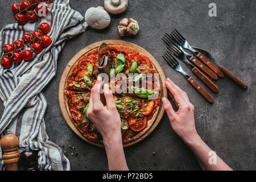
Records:
[[[37,163],[38,152],[30,150],[28,144],[26,149],[20,153],[20,162],[24,171],[38,171]]]

